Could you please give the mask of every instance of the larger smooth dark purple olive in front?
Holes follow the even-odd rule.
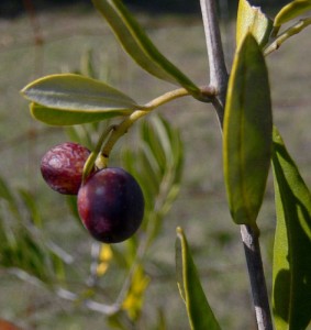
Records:
[[[144,217],[144,197],[134,177],[119,167],[91,175],[78,193],[78,211],[90,234],[103,243],[131,238]]]

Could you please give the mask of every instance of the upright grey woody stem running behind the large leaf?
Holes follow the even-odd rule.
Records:
[[[223,124],[226,98],[227,72],[225,68],[221,43],[216,4],[214,0],[200,0],[207,48],[210,65],[210,85],[218,96],[213,100],[221,127]],[[248,276],[253,294],[253,304],[258,330],[271,330],[273,322],[266,288],[258,233],[248,226],[241,226],[241,237],[244,245]]]

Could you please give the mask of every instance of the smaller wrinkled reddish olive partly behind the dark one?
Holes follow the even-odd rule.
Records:
[[[42,176],[52,189],[65,195],[77,195],[89,155],[90,151],[78,143],[55,145],[42,157]]]

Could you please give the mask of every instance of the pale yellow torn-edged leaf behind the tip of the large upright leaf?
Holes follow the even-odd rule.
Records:
[[[252,33],[260,46],[264,46],[273,29],[273,21],[258,7],[253,7],[247,0],[240,0],[236,20],[236,45]]]

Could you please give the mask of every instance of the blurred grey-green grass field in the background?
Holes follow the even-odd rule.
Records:
[[[171,86],[157,81],[137,68],[123,54],[107,24],[93,11],[82,7],[40,13],[43,44],[35,45],[27,16],[0,21],[0,175],[12,187],[31,189],[46,219],[45,234],[81,265],[87,264],[91,240],[69,216],[62,196],[43,183],[38,164],[44,152],[64,141],[62,129],[34,122],[27,102],[19,90],[32,79],[47,74],[79,68],[89,50],[100,77],[130,94],[140,102]],[[207,82],[208,61],[199,16],[140,16],[158,47],[199,85]],[[226,59],[234,50],[234,23],[222,25]],[[288,41],[268,57],[273,89],[274,117],[289,152],[306,182],[311,174],[311,63],[310,30]],[[186,146],[186,167],[181,194],[166,219],[163,235],[149,252],[149,272],[154,280],[147,290],[144,315],[152,329],[157,309],[165,311],[168,329],[188,329],[184,304],[175,280],[175,229],[181,226],[189,239],[202,275],[204,289],[223,329],[255,329],[245,274],[244,252],[238,228],[233,226],[225,202],[222,179],[221,134],[210,106],[190,98],[175,101],[160,110],[180,128]],[[131,139],[130,139],[131,138]],[[123,143],[135,140],[131,134]],[[113,162],[118,164],[118,157]],[[259,215],[263,256],[268,286],[275,213],[269,179],[265,205]],[[156,272],[153,265],[157,265]],[[3,273],[3,274],[2,274]],[[51,297],[48,292],[24,284],[0,271],[0,318],[23,320],[30,329],[103,329],[103,316]],[[86,270],[87,273],[87,270]],[[241,317],[243,316],[243,317]]]

